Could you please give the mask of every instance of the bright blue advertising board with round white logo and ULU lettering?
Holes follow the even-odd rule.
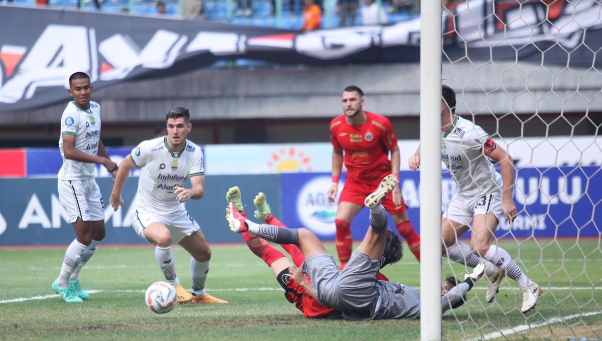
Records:
[[[340,191],[344,184],[341,177]],[[282,218],[290,227],[306,227],[323,240],[335,238],[337,204],[330,203],[326,191],[330,173],[282,174]],[[400,172],[400,189],[408,206],[412,225],[420,231],[420,173]],[[456,183],[444,174],[442,210],[452,200]],[[521,168],[514,193],[518,216],[514,223],[502,221],[498,238],[554,236],[599,236],[602,232],[602,170],[598,167]],[[340,195],[340,192],[339,194]],[[337,196],[338,201],[338,196]],[[393,220],[389,218],[389,226]],[[353,239],[361,240],[368,227],[368,210],[363,209],[352,223]],[[470,234],[465,235],[465,237]]]

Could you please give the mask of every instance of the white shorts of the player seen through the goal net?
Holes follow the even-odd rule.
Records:
[[[499,222],[500,217],[502,217],[500,192],[473,198],[461,198],[456,194],[452,201],[447,204],[447,210],[443,213],[443,218],[472,227],[475,215],[488,214],[490,212],[497,217]]]

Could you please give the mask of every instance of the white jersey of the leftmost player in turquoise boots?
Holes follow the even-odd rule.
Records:
[[[63,135],[75,136],[75,149],[96,156],[101,140],[101,106],[90,101],[90,109],[79,108],[71,101],[61,117],[61,137],[58,148],[61,150],[63,165],[58,171],[58,179],[84,180],[94,177],[94,164],[65,159]]]

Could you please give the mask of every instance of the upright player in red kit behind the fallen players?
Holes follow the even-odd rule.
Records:
[[[363,106],[364,92],[355,85],[350,85],[343,90],[343,115],[330,121],[333,147],[332,185],[327,192],[330,202],[334,202],[337,197],[343,161],[347,167],[347,180],[335,218],[335,239],[341,263],[347,263],[351,256],[353,239],[350,225],[364,207],[367,195],[379,186],[380,180],[386,175],[395,174],[399,179],[399,147],[391,122],[384,116],[364,111]],[[409,221],[399,185],[383,199],[382,205],[393,217],[397,230],[408,242],[409,249],[420,260],[420,236]]]

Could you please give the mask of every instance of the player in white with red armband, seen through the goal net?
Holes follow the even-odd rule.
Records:
[[[512,199],[512,157],[480,126],[455,115],[456,93],[452,88],[442,85],[441,94],[441,160],[458,183],[458,191],[441,219],[442,254],[471,268],[488,260],[486,301],[494,300],[502,277],[507,275],[521,288],[521,312],[527,313],[536,306],[541,287],[523,274],[506,250],[492,245],[502,213],[506,221],[514,220],[517,213]],[[500,164],[501,175],[489,159]],[[408,166],[412,170],[420,167],[420,147],[409,158]],[[469,229],[473,232],[470,247],[457,240]]]

